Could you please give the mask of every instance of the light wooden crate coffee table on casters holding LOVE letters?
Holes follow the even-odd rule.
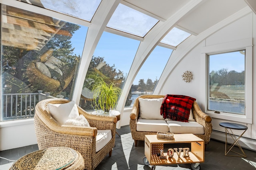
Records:
[[[168,143],[190,143],[189,156],[183,157],[182,151],[180,156],[174,152],[173,157],[168,157],[167,152],[164,152],[167,158],[161,159],[158,153],[161,149],[164,149],[164,144]],[[174,140],[158,139],[156,135],[145,135],[145,157],[143,162],[145,165],[152,165],[152,170],[156,168],[156,165],[188,163],[191,164],[193,170],[199,170],[200,162],[204,162],[204,140],[193,134],[174,134]]]

